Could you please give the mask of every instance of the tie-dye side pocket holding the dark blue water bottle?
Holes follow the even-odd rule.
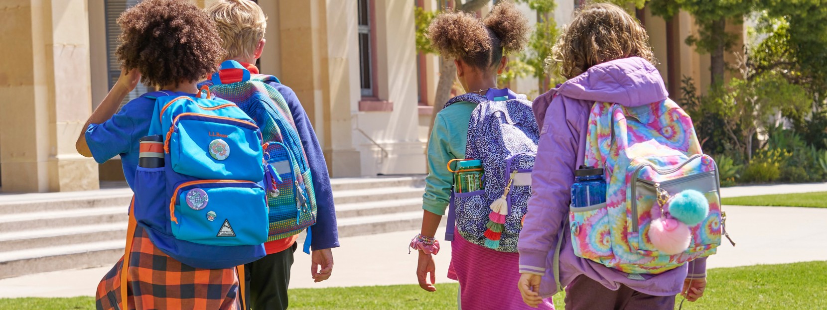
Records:
[[[569,227],[574,254],[603,262],[612,256],[612,235],[606,203],[569,207]]]

